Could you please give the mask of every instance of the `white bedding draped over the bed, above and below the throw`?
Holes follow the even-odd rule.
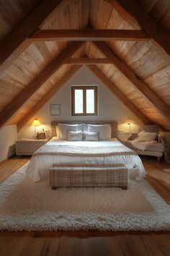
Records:
[[[112,146],[114,148],[120,148],[122,143],[117,139],[112,139],[108,141],[67,141],[67,140],[57,140],[53,137],[46,145],[55,145],[56,147],[60,145],[71,145],[76,147],[91,147],[95,148]],[[125,150],[127,150],[127,147]],[[43,147],[43,146],[42,146]],[[133,150],[130,150],[133,151]],[[131,152],[132,153],[132,152]],[[27,166],[26,175],[30,177],[34,182],[39,182],[41,179],[45,179],[48,176],[50,167],[54,163],[123,163],[129,170],[130,178],[135,180],[143,179],[146,175],[143,163],[138,155],[125,154],[125,155],[108,155],[108,156],[69,156],[69,155],[32,155],[31,161]]]

